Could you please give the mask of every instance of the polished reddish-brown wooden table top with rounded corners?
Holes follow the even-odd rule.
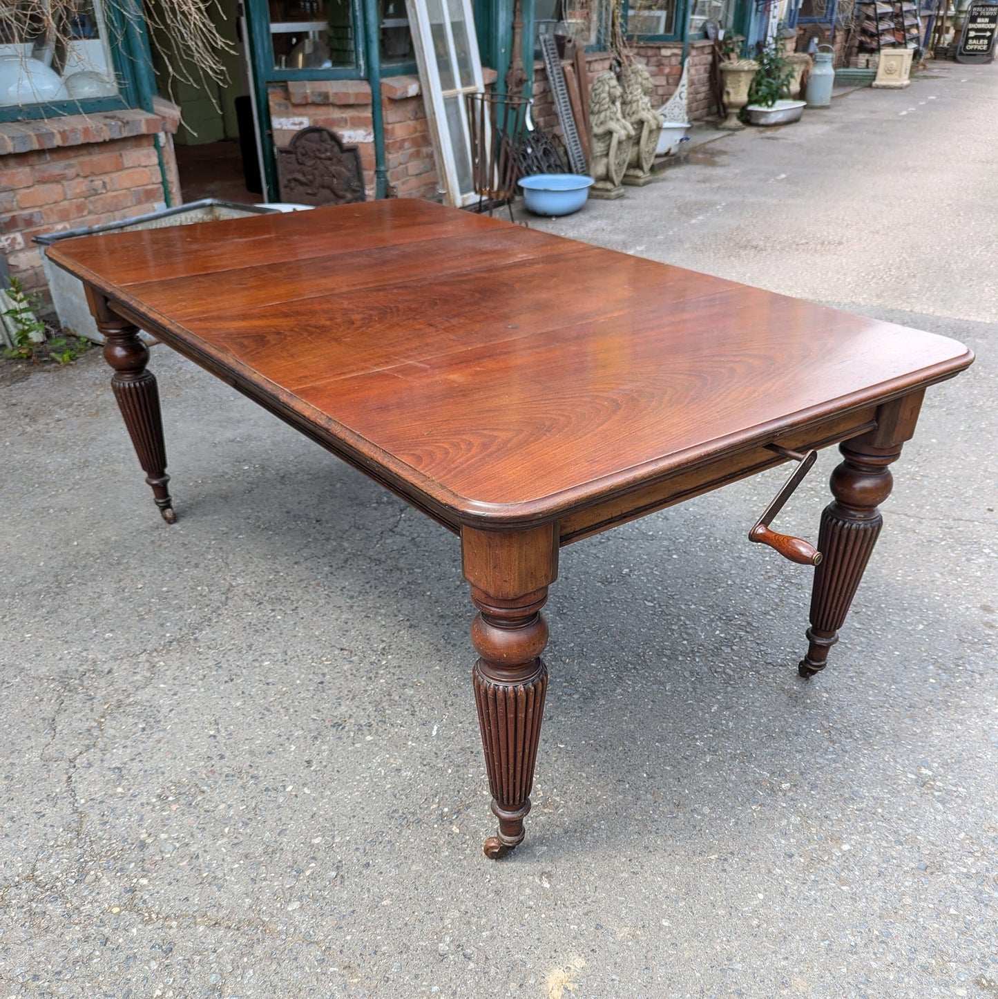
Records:
[[[943,337],[416,200],[48,252],[463,522],[557,516],[973,360]]]

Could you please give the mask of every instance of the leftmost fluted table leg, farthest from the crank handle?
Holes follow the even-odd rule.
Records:
[[[113,313],[106,300],[91,294],[90,306],[97,329],[104,336],[104,360],[114,369],[111,388],[139,464],[163,519],[173,523],[176,514],[167,489],[170,477],[166,473],[160,394],[156,377],[146,371],[149,348],[139,338],[138,327]]]

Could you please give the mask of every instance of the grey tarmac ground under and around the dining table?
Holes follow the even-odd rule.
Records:
[[[979,360],[814,679],[808,573],[745,540],[785,470],[563,551],[499,863],[449,533],[165,348],[173,527],[96,352],[8,384],[0,999],[998,994],[996,83],[934,68],[534,223]]]

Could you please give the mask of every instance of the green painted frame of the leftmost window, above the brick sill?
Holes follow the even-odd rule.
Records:
[[[38,121],[41,118],[65,118],[128,108],[151,112],[153,97],[156,96],[156,78],[140,0],[107,0],[104,20],[118,81],[117,96],[0,108],[0,122]]]

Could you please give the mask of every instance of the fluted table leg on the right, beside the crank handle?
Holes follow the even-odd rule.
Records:
[[[821,514],[818,550],[823,557],[814,569],[807,654],[797,666],[801,676],[824,669],[828,650],[838,641],[883,525],[877,507],[893,486],[889,466],[914,433],[921,402],[922,393],[915,393],[880,407],[876,430],[839,446],[843,462],[831,477],[835,499]]]

